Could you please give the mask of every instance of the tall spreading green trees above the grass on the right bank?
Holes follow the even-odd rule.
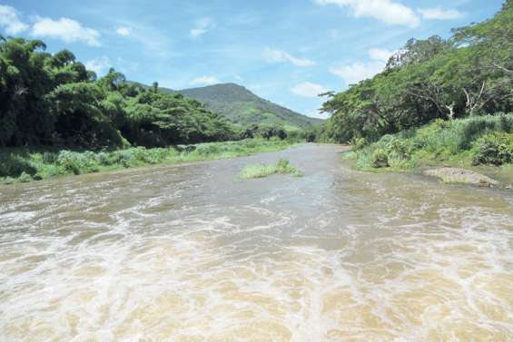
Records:
[[[512,112],[512,30],[508,0],[493,18],[455,29],[448,40],[409,40],[383,73],[345,92],[325,94],[322,110],[331,117],[317,139],[350,142],[363,137],[377,142],[385,134],[408,132],[437,119]],[[486,120],[473,124],[451,151],[469,149],[483,130],[496,129],[487,127]],[[444,132],[443,127],[431,129]]]

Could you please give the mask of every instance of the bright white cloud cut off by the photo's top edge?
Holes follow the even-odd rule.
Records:
[[[349,7],[356,17],[366,16],[378,19],[387,24],[400,24],[417,27],[419,16],[406,5],[393,0],[314,0],[318,5],[338,5]]]

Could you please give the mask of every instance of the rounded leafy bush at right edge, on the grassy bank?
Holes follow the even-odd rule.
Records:
[[[513,162],[513,133],[493,132],[478,140],[472,160],[474,165],[502,165]]]

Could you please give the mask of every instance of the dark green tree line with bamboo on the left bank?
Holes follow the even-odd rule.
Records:
[[[232,125],[180,93],[127,82],[111,69],[98,78],[68,50],[0,36],[0,147],[85,149],[222,142],[287,136],[279,127]]]

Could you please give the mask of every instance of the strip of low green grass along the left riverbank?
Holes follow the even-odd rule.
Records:
[[[112,171],[154,164],[176,164],[280,151],[294,142],[252,139],[212,142],[170,148],[136,147],[120,151],[67,151],[49,148],[0,149],[0,184],[41,181],[84,173]]]

